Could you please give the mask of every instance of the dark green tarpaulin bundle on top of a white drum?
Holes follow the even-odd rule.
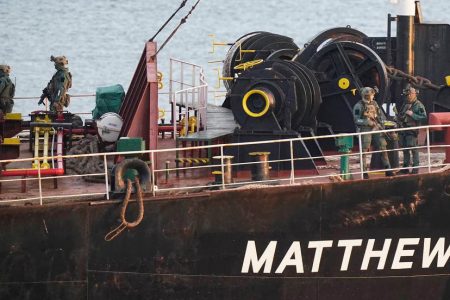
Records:
[[[92,117],[99,119],[107,112],[118,113],[125,98],[125,91],[120,84],[97,88],[95,92],[95,108]]]

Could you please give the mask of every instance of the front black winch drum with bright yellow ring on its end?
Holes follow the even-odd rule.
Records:
[[[296,130],[304,118],[311,118],[320,90],[312,72],[302,68],[288,61],[266,61],[239,76],[230,103],[242,130]]]

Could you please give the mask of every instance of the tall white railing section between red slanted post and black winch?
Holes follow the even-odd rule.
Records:
[[[203,125],[206,129],[206,109],[208,103],[208,83],[201,66],[180,59],[170,58],[169,99],[172,111],[173,136],[176,138],[177,122],[189,128],[189,118],[196,117],[194,131]],[[178,110],[177,110],[178,107]]]

